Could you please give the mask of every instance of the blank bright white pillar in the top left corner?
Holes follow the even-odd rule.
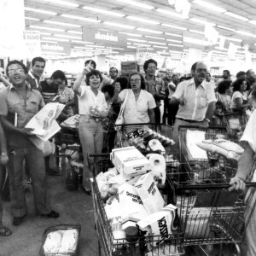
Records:
[[[0,1],[0,55],[11,59],[25,56],[23,31],[25,30],[24,0]]]

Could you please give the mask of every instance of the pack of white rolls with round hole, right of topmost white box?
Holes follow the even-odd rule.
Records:
[[[151,164],[151,174],[158,183],[166,183],[166,160],[161,154],[147,154]]]

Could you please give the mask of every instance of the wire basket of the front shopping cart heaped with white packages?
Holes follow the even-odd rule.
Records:
[[[104,202],[101,199],[98,184],[96,183],[96,175],[99,172],[106,172],[108,167],[112,164],[109,160],[109,154],[90,154],[90,171],[92,173],[92,198],[94,215],[96,222],[96,232],[98,236],[99,255],[112,256],[112,255],[127,255],[136,256],[131,252],[120,252],[119,250],[125,250],[126,242],[121,239],[114,239],[111,225],[108,221],[107,214],[104,208]],[[138,239],[135,243],[140,247],[140,254],[145,256],[157,256],[163,255],[181,255],[183,254],[183,232],[181,227],[178,228],[177,232],[172,235],[165,237],[163,242],[157,247],[154,247],[153,251],[148,252],[147,246],[153,241],[160,241],[163,239],[161,236],[147,236]]]

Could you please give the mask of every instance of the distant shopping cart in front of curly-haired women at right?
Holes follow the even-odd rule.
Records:
[[[228,137],[233,141],[239,141],[247,124],[246,114],[226,113],[224,114],[224,125],[227,127]]]

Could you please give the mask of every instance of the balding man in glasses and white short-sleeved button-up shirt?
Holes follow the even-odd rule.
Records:
[[[192,79],[178,84],[169,104],[179,104],[172,137],[178,143],[180,125],[208,127],[215,108],[214,85],[207,82],[207,66],[195,62],[191,67]],[[171,107],[172,108],[172,107]]]

